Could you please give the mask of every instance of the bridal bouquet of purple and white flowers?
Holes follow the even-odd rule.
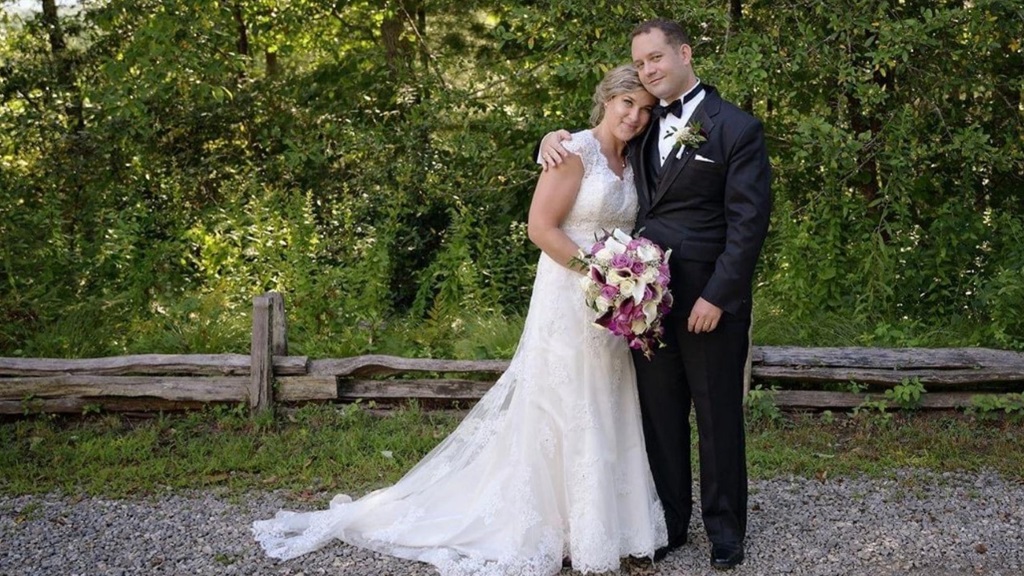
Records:
[[[646,238],[615,229],[589,252],[580,251],[587,266],[582,280],[587,305],[598,313],[595,326],[626,338],[646,358],[662,343],[662,317],[672,307],[669,255]]]

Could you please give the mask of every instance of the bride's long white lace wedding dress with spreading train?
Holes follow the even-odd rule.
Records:
[[[566,145],[585,170],[565,233],[589,247],[632,230],[630,169],[615,176],[589,130]],[[254,523],[266,552],[291,559],[337,538],[442,575],[550,576],[563,557],[604,572],[665,545],[630,353],[595,327],[580,278],[542,254],[508,371],[456,430],[394,486]]]

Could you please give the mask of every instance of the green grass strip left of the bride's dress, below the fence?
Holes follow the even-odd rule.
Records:
[[[397,480],[455,423],[416,405],[385,417],[309,405],[273,419],[223,407],[145,420],[22,419],[0,424],[0,492],[365,492]]]

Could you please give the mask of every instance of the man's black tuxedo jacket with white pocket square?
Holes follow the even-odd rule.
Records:
[[[671,248],[674,263],[708,262],[710,268],[713,262],[700,296],[729,314],[749,317],[754,269],[771,211],[764,128],[713,86],[705,89],[689,120],[699,122],[706,134],[698,147],[686,147],[678,159],[673,149],[658,172],[649,156],[657,154],[658,120],[652,118],[630,142],[640,201],[637,230]],[[672,268],[675,275],[677,266]],[[688,315],[689,307],[683,313]]]

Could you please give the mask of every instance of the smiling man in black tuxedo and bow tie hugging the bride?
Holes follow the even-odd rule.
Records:
[[[700,83],[678,24],[641,24],[632,52],[644,87],[660,99],[629,151],[637,230],[673,251],[675,305],[665,321],[666,346],[649,361],[634,351],[647,455],[669,528],[669,545],[654,559],[686,543],[692,404],[711,565],[729,569],[743,562],[746,532],[743,367],[754,268],[771,211],[764,131]],[[545,168],[567,154],[558,143],[567,135],[545,136]]]

